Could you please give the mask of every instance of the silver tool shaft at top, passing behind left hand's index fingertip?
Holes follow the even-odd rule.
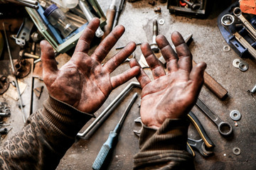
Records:
[[[90,8],[88,7],[87,1],[80,0],[78,4],[79,4],[82,12],[85,14],[85,18],[87,19],[87,21],[90,22],[94,16],[93,16],[92,12],[90,11]],[[99,26],[95,32],[95,35],[96,35],[96,37],[100,38],[100,37],[102,37],[103,34],[104,34],[104,32],[102,31],[102,29]]]

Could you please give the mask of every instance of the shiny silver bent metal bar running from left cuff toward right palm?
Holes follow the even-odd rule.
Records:
[[[105,108],[105,110],[93,121],[93,123],[84,132],[79,132],[78,133],[77,137],[85,138],[85,135],[87,135],[90,132],[90,130],[92,130],[92,128],[94,128],[95,125],[98,124],[98,122],[100,120],[104,120],[102,118],[105,115],[107,116],[110,113],[112,113],[112,111],[114,111],[114,108],[116,108],[119,105],[119,103],[121,103],[124,96],[126,94],[128,94],[129,91],[131,91],[133,87],[139,87],[140,88],[140,85],[139,85],[138,82],[135,82],[135,81],[132,81],[131,83],[129,83],[128,86],[126,86],[124,88],[124,90],[116,98],[114,98],[114,101],[112,101],[112,103],[110,103],[110,105],[107,106],[107,108]]]

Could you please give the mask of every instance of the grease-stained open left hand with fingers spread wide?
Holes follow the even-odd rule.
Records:
[[[41,42],[43,81],[50,96],[86,113],[97,111],[112,89],[124,84],[139,73],[139,67],[134,67],[127,72],[110,77],[110,73],[135,50],[134,42],[130,42],[104,66],[101,64],[107,53],[124,33],[123,26],[114,28],[95,52],[91,56],[87,55],[90,42],[99,25],[100,20],[98,18],[90,21],[78,40],[73,57],[60,69],[57,68],[53,47],[46,40]]]

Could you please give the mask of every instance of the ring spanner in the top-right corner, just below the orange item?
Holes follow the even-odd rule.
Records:
[[[248,33],[252,36],[254,40],[256,40],[256,30],[255,28],[250,24],[247,19],[242,16],[242,11],[239,7],[235,7],[233,10],[234,15],[242,21],[242,24],[245,26],[245,29],[248,31]]]

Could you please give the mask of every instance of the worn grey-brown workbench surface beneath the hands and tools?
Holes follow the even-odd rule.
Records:
[[[106,13],[111,1],[98,0],[98,2],[102,11]],[[228,98],[221,101],[206,86],[203,86],[200,98],[222,120],[232,125],[233,134],[229,137],[220,135],[218,128],[213,122],[199,111],[198,108],[193,108],[193,113],[201,120],[208,136],[215,144],[215,148],[213,149],[214,154],[210,157],[202,157],[196,151],[196,157],[194,159],[196,169],[255,169],[256,166],[256,157],[253,154],[256,153],[254,142],[256,135],[256,103],[252,99],[252,96],[247,94],[247,90],[252,89],[252,86],[255,86],[256,83],[256,63],[255,60],[250,58],[242,59],[249,64],[249,69],[247,72],[241,72],[239,69],[233,67],[233,60],[240,57],[232,49],[228,52],[223,50],[223,47],[227,43],[218,29],[217,18],[229,5],[228,1],[225,4],[220,0],[214,1],[208,18],[199,19],[170,14],[166,8],[167,3],[160,4],[159,1],[156,1],[155,6],[149,5],[148,1],[136,1],[134,3],[126,1],[119,17],[119,24],[122,24],[126,28],[126,31],[115,47],[126,45],[129,41],[151,42],[154,19],[164,19],[164,25],[159,25],[159,34],[166,35],[169,42],[171,42],[170,35],[174,30],[178,30],[183,36],[192,33],[193,41],[189,45],[189,48],[193,54],[193,60],[196,62],[206,62],[208,64],[206,72],[228,90]],[[154,8],[158,6],[161,7],[161,13],[154,12]],[[92,47],[90,52],[94,49],[95,47]],[[107,55],[106,60],[110,59],[117,52],[118,50],[113,48],[110,54]],[[141,54],[142,52],[138,45],[135,51],[137,60],[139,60]],[[67,57],[65,56],[63,58]],[[62,60],[62,58],[59,57],[58,60]],[[127,69],[129,69],[129,64],[124,63],[112,73],[112,76],[124,72]],[[144,70],[148,74],[151,73],[150,69]],[[137,80],[132,79],[131,81]],[[38,80],[34,82],[36,86],[43,84]],[[100,115],[129,82],[114,89],[95,115]],[[100,128],[90,136],[87,136],[87,139],[77,140],[68,149],[68,152],[61,159],[57,169],[91,169],[102,144],[107,140],[110,131],[114,130],[115,125],[119,121],[119,118],[121,118],[124,109],[127,107],[135,91],[141,94],[141,89],[132,89]],[[41,108],[41,104],[47,96],[47,89],[44,88],[40,100],[38,98],[33,99],[33,111]],[[132,169],[133,156],[139,151],[138,137],[133,132],[133,130],[139,130],[140,128],[139,125],[134,123],[134,120],[139,117],[139,102],[140,98],[137,98],[119,134],[117,146],[112,153],[112,159],[105,169]],[[230,118],[230,112],[233,110],[238,110],[242,114],[242,118],[237,121],[238,126],[235,126],[235,122]],[[83,132],[92,121],[90,120],[80,132]],[[199,137],[193,125],[190,125],[188,137],[193,139],[198,139]],[[240,148],[241,153],[239,155],[233,154],[234,147]]]

